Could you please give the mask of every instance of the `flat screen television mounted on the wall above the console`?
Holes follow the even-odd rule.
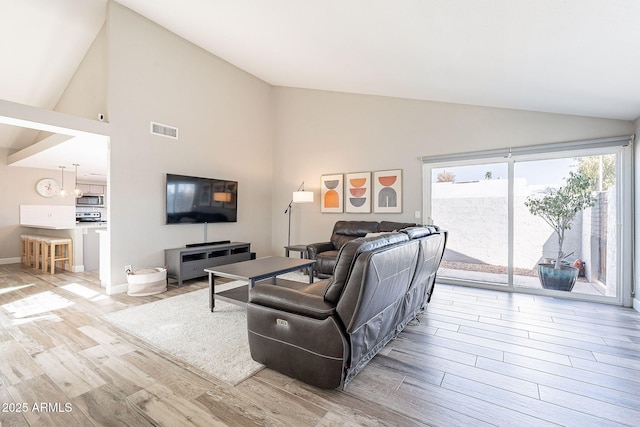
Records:
[[[238,221],[238,182],[167,174],[167,224]]]

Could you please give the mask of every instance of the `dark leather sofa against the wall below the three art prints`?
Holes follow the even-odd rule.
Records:
[[[365,237],[369,233],[398,231],[415,225],[392,221],[337,221],[328,242],[307,245],[309,258],[316,260],[313,267],[316,277],[327,278],[333,274],[338,251],[345,243],[359,237]]]

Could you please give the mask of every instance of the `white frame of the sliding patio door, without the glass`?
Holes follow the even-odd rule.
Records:
[[[498,149],[422,158],[423,218],[432,222],[432,169],[455,166],[481,165],[486,163],[507,163],[508,167],[508,269],[507,284],[488,284],[473,280],[439,278],[440,283],[474,286],[479,288],[518,292],[525,294],[552,296],[564,299],[601,302],[632,306],[633,288],[633,230],[634,230],[634,189],[633,189],[633,136],[576,141],[558,144]],[[571,292],[514,286],[514,165],[517,161],[544,160],[561,157],[587,157],[597,154],[616,155],[616,296],[574,294]],[[437,224],[436,224],[437,225]]]

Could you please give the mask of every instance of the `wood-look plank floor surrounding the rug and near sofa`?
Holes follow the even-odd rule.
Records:
[[[269,369],[232,387],[101,319],[206,286],[108,296],[92,273],[0,265],[1,426],[640,425],[631,309],[436,285],[346,390]]]

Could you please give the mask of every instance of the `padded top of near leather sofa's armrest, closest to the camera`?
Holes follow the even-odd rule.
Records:
[[[249,303],[314,319],[326,319],[336,311],[334,305],[324,300],[324,292],[321,294],[309,293],[304,290],[266,283],[256,285],[251,289]]]

